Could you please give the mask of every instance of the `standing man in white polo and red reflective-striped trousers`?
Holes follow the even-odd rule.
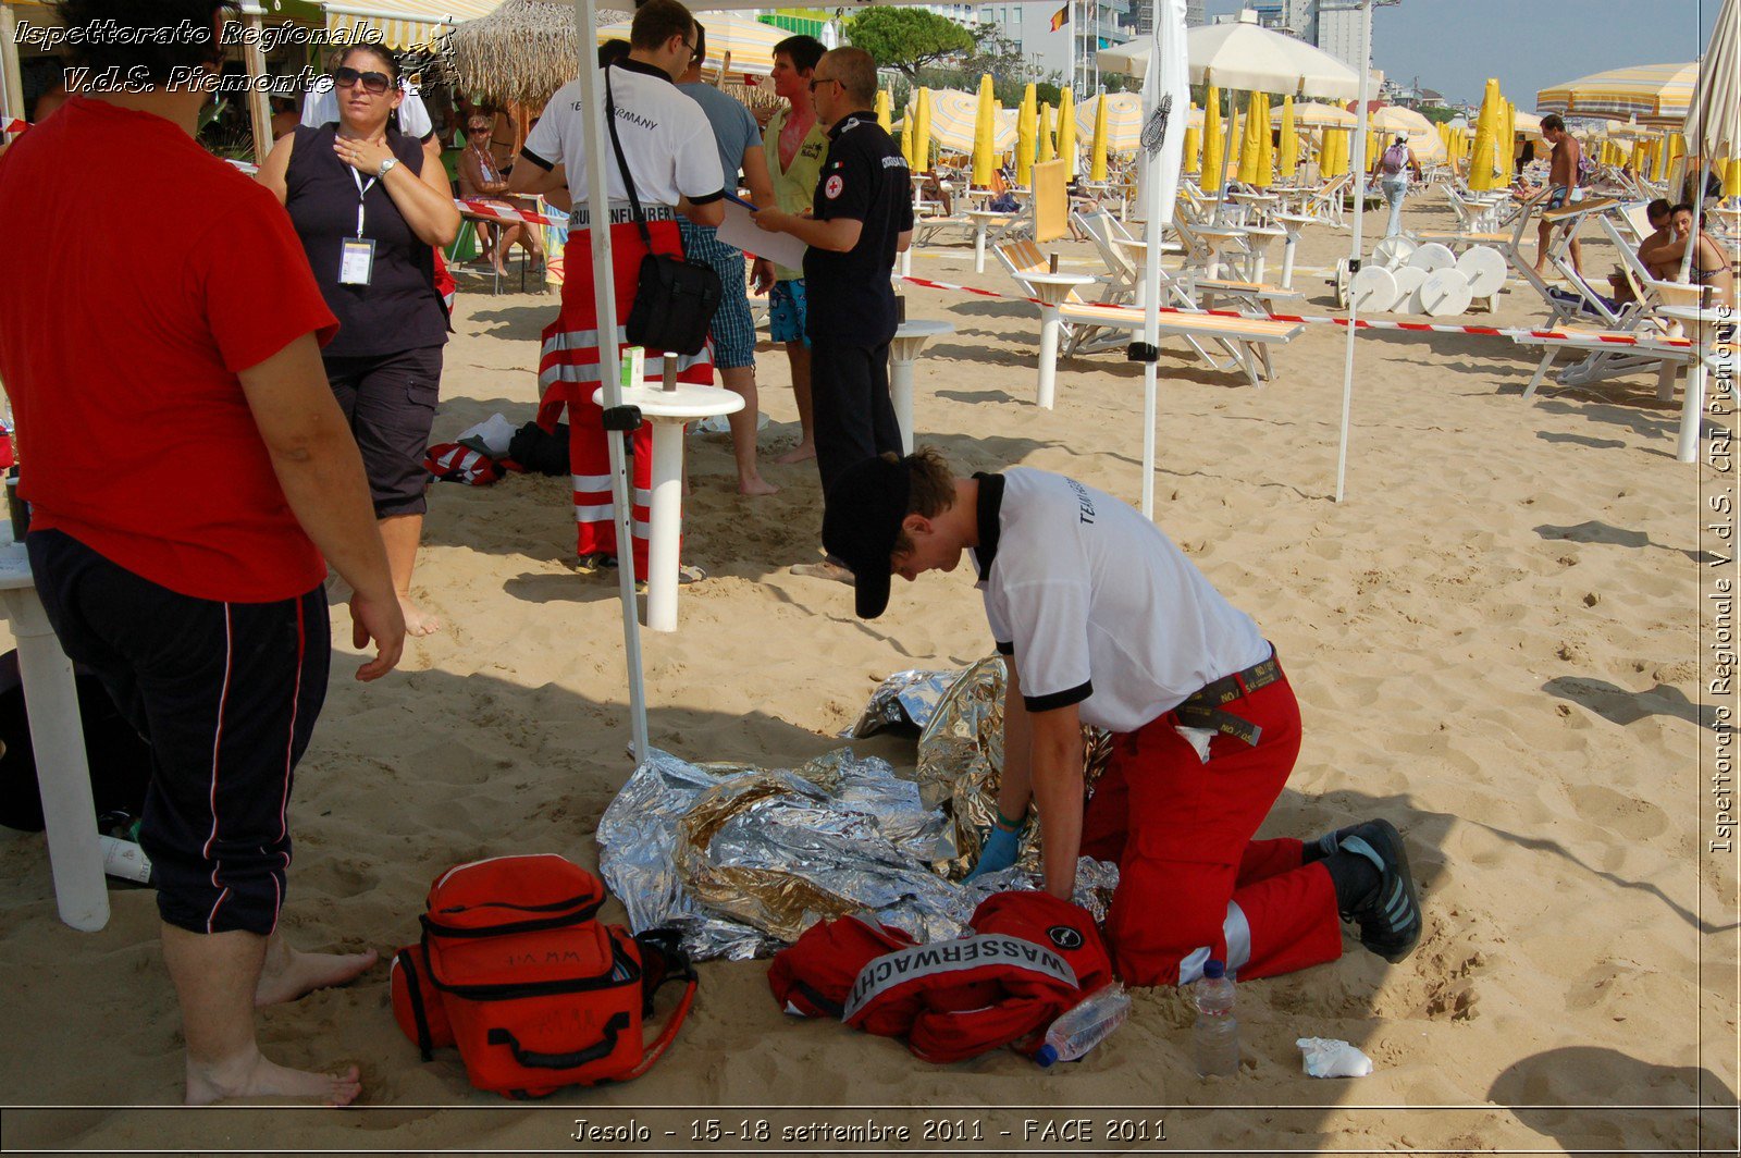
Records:
[[[629,31],[629,57],[606,70],[616,110],[616,138],[634,176],[635,195],[648,218],[651,249],[682,252],[677,214],[696,225],[726,218],[724,174],[707,113],[677,91],[676,80],[695,54],[695,17],[677,0],[646,0]],[[562,259],[562,312],[543,331],[538,385],[543,404],[538,421],[552,430],[562,407],[569,413],[569,470],[575,477],[576,554],[581,569],[616,562],[616,524],[611,507],[611,460],[604,441],[604,411],[592,401],[599,388],[599,320],[592,296],[592,221],[587,211],[585,87],[571,80],[555,91],[543,117],[526,138],[514,165],[514,193],[566,193],[575,202]],[[625,345],[623,322],[635,300],[637,272],[648,244],[629,205],[629,185],[615,150],[604,158],[611,193],[611,268],[616,275],[616,343]],[[660,359],[648,352],[648,381],[660,381]],[[709,350],[677,360],[677,380],[710,385]],[[651,427],[635,432],[634,559],[646,575],[648,507],[653,496]],[[695,576],[688,569],[686,578]]]

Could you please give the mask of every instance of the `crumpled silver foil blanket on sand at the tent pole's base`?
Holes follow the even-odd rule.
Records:
[[[956,885],[944,810],[888,761],[837,749],[792,770],[653,751],[599,822],[599,871],[635,932],[676,925],[696,959],[766,956],[815,921],[869,911],[918,940],[958,937],[980,900],[1038,886],[1020,867]],[[1118,883],[1083,860],[1095,919]]]

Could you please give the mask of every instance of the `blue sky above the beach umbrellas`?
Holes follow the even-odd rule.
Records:
[[[1140,0],[1139,0],[1140,2]],[[1234,12],[1238,0],[1208,0]],[[1536,91],[1626,64],[1692,61],[1720,0],[1402,0],[1372,12],[1372,63],[1403,84],[1421,77],[1450,99],[1482,99],[1499,77],[1518,108]]]

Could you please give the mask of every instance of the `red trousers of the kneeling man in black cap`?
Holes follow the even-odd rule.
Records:
[[[1083,853],[1118,864],[1106,933],[1119,977],[1184,986],[1217,958],[1241,979],[1342,954],[1335,888],[1301,841],[1254,841],[1301,749],[1287,677],[1226,705],[1262,728],[1255,747],[1217,733],[1205,764],[1172,712],[1114,737],[1083,815]]]

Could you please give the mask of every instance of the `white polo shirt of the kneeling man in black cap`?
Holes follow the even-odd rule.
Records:
[[[1086,724],[1135,731],[1269,658],[1257,623],[1128,503],[1027,467],[975,477],[985,618],[1027,710],[1076,704]]]

